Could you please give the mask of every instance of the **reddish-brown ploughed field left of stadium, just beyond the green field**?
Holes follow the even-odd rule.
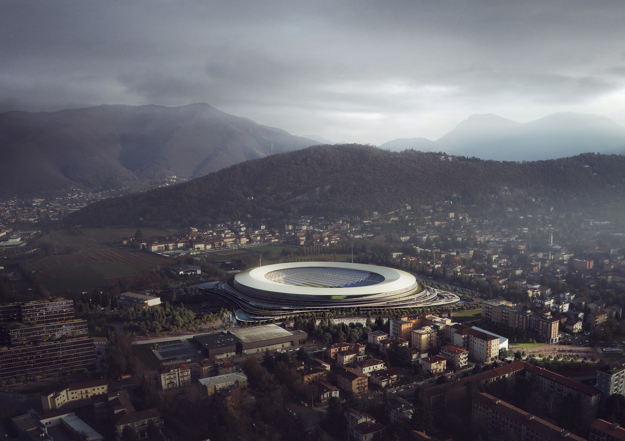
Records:
[[[70,270],[72,267],[98,266],[111,263],[125,263],[136,269],[136,272],[147,273],[156,266],[161,268],[176,264],[171,258],[150,254],[139,250],[119,250],[118,248],[104,248],[102,250],[83,250],[74,254],[47,256],[32,263],[33,269]],[[93,270],[92,270],[93,271]],[[128,273],[133,274],[133,273]]]

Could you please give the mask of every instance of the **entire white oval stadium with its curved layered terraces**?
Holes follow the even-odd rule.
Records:
[[[278,263],[200,286],[227,301],[239,321],[266,320],[332,308],[423,308],[459,298],[423,289],[412,274],[345,262]]]

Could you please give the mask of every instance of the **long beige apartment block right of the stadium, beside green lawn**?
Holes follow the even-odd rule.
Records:
[[[482,303],[482,319],[509,331],[521,332],[528,337],[547,343],[557,343],[559,319],[551,311],[533,313],[509,301],[497,299]]]

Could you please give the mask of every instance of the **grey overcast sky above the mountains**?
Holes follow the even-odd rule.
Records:
[[[7,1],[0,110],[207,102],[295,135],[436,139],[471,114],[625,122],[621,1]]]

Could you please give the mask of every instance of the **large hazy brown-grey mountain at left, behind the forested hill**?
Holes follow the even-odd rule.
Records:
[[[203,103],[4,112],[0,193],[112,188],[173,175],[191,179],[315,144]]]

